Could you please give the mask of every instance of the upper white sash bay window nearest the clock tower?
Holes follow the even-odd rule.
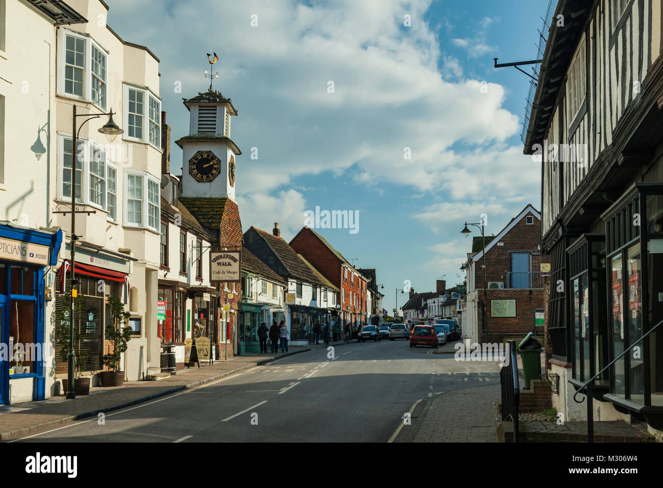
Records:
[[[124,86],[125,139],[149,143],[161,150],[161,101],[146,88]]]

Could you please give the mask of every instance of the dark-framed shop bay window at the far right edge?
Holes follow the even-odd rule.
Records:
[[[618,410],[663,420],[663,185],[634,183],[602,215],[605,220],[610,287],[610,394]],[[634,347],[631,347],[634,345]],[[622,410],[620,410],[622,411]]]

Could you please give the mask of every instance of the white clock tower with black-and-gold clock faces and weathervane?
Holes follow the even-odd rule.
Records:
[[[176,141],[182,148],[182,197],[235,202],[235,159],[241,151],[230,138],[231,116],[237,115],[232,100],[211,83],[208,92],[182,100],[190,113],[189,135]]]

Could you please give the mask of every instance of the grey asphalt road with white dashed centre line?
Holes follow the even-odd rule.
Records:
[[[436,395],[499,382],[495,363],[432,351],[387,340],[320,347],[19,442],[409,442]]]

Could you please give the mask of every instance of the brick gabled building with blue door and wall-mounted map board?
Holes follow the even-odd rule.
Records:
[[[540,252],[540,219],[528,204],[496,236],[485,236],[485,256],[483,238],[473,237],[472,252],[461,268],[467,272],[463,335],[473,343],[500,343],[531,331],[543,334],[541,264],[550,261]]]

